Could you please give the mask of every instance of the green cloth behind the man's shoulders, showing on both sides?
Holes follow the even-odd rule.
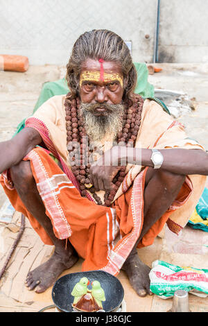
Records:
[[[141,95],[144,98],[153,98],[154,96],[154,87],[150,83],[148,83],[148,68],[145,63],[135,63],[135,67],[137,69],[137,87],[135,88],[135,93]],[[44,83],[42,90],[40,92],[40,96],[35,104],[35,108],[33,113],[40,108],[40,106],[46,102],[49,98],[55,95],[64,95],[69,93],[69,88],[67,86],[67,81],[65,78],[60,80],[56,80],[55,82]],[[24,128],[25,121],[21,121],[17,126],[17,131],[15,135]],[[14,136],[15,136],[14,135]]]

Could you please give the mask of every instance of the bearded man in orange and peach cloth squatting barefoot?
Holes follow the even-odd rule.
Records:
[[[78,38],[67,83],[67,96],[50,98],[0,144],[12,206],[55,247],[26,285],[41,293],[83,257],[83,271],[123,268],[144,296],[150,267],[137,248],[165,223],[184,228],[205,187],[207,154],[157,101],[134,94],[137,72],[115,33]]]

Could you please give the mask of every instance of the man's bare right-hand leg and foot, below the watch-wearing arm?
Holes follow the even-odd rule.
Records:
[[[179,193],[184,180],[184,175],[175,175],[167,171],[149,168],[146,173],[144,190],[144,224],[139,239],[123,264],[122,269],[127,273],[130,283],[139,296],[150,294],[150,268],[139,259],[137,244],[144,237],[151,226],[171,206]]]

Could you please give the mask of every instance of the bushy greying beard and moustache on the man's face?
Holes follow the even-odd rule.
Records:
[[[107,108],[108,112],[105,116],[95,116],[94,109],[101,106]],[[122,130],[124,110],[123,104],[81,103],[80,114],[89,140],[101,141],[106,134],[110,134],[115,140],[118,132]]]

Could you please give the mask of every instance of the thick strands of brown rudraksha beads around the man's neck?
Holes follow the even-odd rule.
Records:
[[[141,112],[144,100],[138,94],[132,99],[132,105],[125,108],[123,114],[123,128],[118,133],[116,142],[120,146],[135,146],[139,126],[141,123]],[[83,119],[80,115],[80,99],[71,99],[71,94],[67,94],[64,102],[66,111],[67,125],[67,149],[69,151],[69,160],[71,171],[75,175],[80,185],[81,196],[86,196],[87,190],[91,192],[98,205],[103,205],[101,198],[96,194],[94,186],[90,183],[89,169],[92,164],[93,154],[97,151],[102,155],[101,149],[90,150],[89,139],[85,131]],[[88,157],[86,156],[88,155]],[[105,191],[104,205],[110,206],[114,200],[117,190],[125,178],[125,166],[122,166],[112,182],[115,187],[112,191]]]

